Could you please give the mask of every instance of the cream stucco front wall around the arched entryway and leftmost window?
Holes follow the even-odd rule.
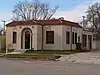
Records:
[[[26,25],[26,26],[13,26],[13,27],[7,27],[6,32],[6,47],[8,45],[12,45],[13,49],[19,50],[21,49],[21,32],[24,28],[28,27],[32,30],[32,48],[37,50],[37,25]],[[13,44],[13,31],[17,32],[17,43]]]

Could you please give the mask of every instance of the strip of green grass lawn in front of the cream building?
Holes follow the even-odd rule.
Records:
[[[79,51],[26,51],[24,54],[8,54],[7,58],[20,58],[20,59],[38,59],[38,58],[48,58],[56,59],[61,57],[62,54],[74,54],[79,53]]]

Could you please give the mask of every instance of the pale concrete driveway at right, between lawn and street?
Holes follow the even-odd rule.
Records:
[[[72,55],[63,55],[60,59],[62,61],[73,63],[86,63],[86,64],[100,64],[100,52],[87,52]]]

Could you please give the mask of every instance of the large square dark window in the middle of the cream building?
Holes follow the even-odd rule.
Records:
[[[46,31],[46,44],[54,44],[54,31]]]

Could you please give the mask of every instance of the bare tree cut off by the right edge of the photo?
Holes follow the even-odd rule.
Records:
[[[97,32],[100,32],[100,3],[89,6],[86,13],[87,22],[89,22]]]

